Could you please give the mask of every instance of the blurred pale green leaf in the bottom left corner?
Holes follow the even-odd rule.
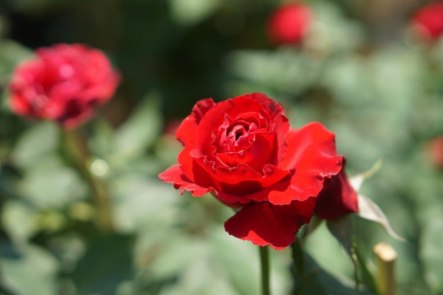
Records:
[[[16,295],[57,294],[57,260],[42,248],[0,242],[1,284]]]

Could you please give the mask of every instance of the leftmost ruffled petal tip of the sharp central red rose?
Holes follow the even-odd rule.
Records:
[[[181,189],[180,195],[183,195],[183,191],[187,190],[191,192],[194,197],[202,197],[207,194],[207,192],[213,190],[213,187],[201,187],[200,185],[193,183],[185,174],[183,174],[183,171],[178,165],[171,166],[160,173],[159,178],[165,183],[172,183],[176,190]]]

